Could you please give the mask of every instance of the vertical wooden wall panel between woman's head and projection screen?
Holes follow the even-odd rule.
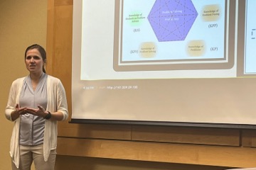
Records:
[[[54,11],[54,49],[51,74],[58,77],[65,86],[68,111],[71,113],[73,5],[55,6]],[[63,124],[68,124],[68,122],[59,122],[60,129]]]

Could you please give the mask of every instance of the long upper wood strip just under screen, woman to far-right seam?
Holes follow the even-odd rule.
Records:
[[[76,125],[66,123],[60,128],[59,136],[240,146],[240,130],[232,129],[139,125]]]

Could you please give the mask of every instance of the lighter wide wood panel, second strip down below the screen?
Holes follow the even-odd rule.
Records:
[[[255,167],[256,148],[58,138],[58,154],[149,162]]]

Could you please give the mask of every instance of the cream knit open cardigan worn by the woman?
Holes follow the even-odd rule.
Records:
[[[5,115],[8,120],[11,120],[11,112],[16,108],[16,103],[19,103],[19,96],[21,94],[21,89],[23,86],[23,80],[25,77],[16,79],[11,84],[11,89],[9,92],[9,99],[6,106]],[[60,79],[47,77],[47,108],[46,111],[55,112],[60,111],[63,113],[63,120],[68,119],[68,104],[67,98],[65,96],[65,89]],[[13,120],[11,120],[13,121]],[[21,119],[18,118],[14,120],[14,129],[11,135],[11,145],[10,154],[11,159],[18,168],[19,166],[19,128]],[[50,155],[50,150],[56,149],[57,147],[57,121],[46,120],[44,137],[43,137],[43,157],[47,161]]]

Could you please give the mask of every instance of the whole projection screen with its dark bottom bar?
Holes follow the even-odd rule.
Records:
[[[253,6],[73,1],[70,123],[255,128]]]

